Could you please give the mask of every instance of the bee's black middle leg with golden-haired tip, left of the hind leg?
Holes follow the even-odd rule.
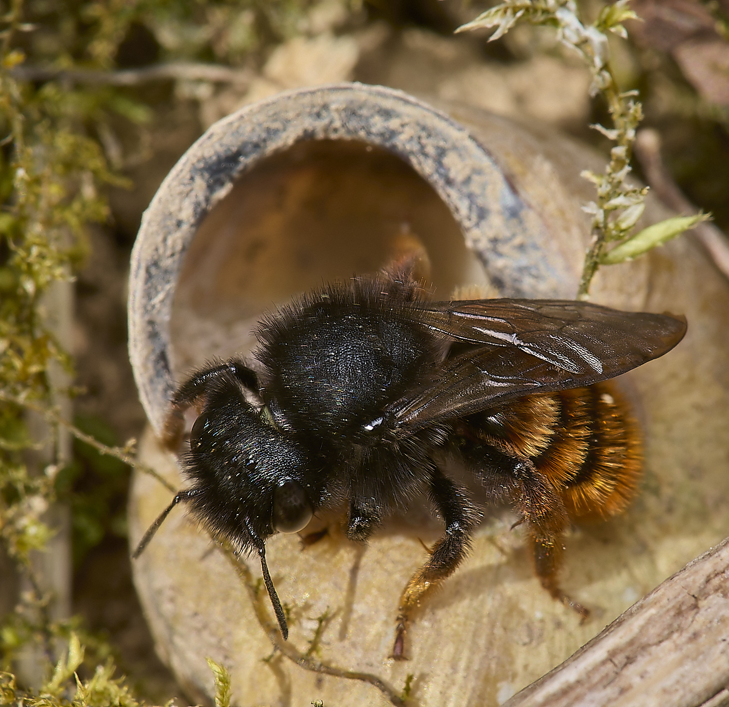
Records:
[[[400,596],[392,649],[392,657],[396,660],[405,659],[405,633],[411,615],[420,606],[425,593],[450,577],[464,559],[478,518],[478,512],[466,493],[440,469],[432,471],[428,496],[443,517],[445,535],[434,544],[429,560],[410,577]]]

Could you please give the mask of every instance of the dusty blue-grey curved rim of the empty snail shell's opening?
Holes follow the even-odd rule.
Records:
[[[464,243],[504,296],[572,292],[574,273],[539,215],[461,125],[384,87],[345,84],[284,93],[213,125],[172,169],[144,213],[130,274],[130,356],[155,431],[174,388],[170,324],[176,288],[200,224],[256,165],[312,141],[384,150],[409,165],[443,200]],[[386,208],[379,216],[389,217]],[[324,239],[313,243],[308,257],[314,262],[327,257],[328,245]],[[289,254],[295,257],[296,251]],[[284,254],[277,267],[290,265],[285,260]],[[349,263],[342,260],[338,274],[348,276]],[[321,279],[324,273],[317,274]],[[285,300],[295,292],[294,286],[276,294]]]

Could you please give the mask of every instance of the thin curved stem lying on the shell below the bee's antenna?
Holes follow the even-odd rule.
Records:
[[[323,673],[324,675],[331,675],[336,678],[360,680],[362,682],[367,682],[370,685],[373,685],[373,687],[376,687],[378,690],[380,690],[380,692],[382,692],[382,694],[385,695],[385,697],[390,700],[392,704],[396,705],[397,707],[404,707],[404,700],[402,700],[402,698],[399,697],[399,695],[397,695],[396,692],[383,679],[378,678],[378,676],[373,675],[372,673],[359,673],[356,671],[348,671],[344,670],[343,668],[337,668],[335,665],[322,663],[321,660],[316,660],[315,658],[301,652],[294,646],[294,644],[292,644],[291,641],[282,640],[281,633],[278,631],[278,627],[268,617],[268,611],[266,610],[265,604],[262,601],[263,593],[258,590],[256,582],[254,581],[248,566],[246,566],[241,558],[238,558],[238,556],[235,555],[235,552],[233,552],[233,550],[231,550],[229,547],[225,547],[225,545],[220,543],[219,547],[222,552],[225,553],[228,560],[230,560],[230,563],[233,565],[236,574],[238,574],[238,578],[241,579],[241,582],[246,587],[246,590],[248,590],[258,622],[260,623],[261,628],[264,630],[266,636],[268,636],[271,644],[273,644],[274,649],[280,651],[281,654],[285,655],[289,660],[292,661],[292,663],[295,663],[304,670],[312,671],[313,673]]]

